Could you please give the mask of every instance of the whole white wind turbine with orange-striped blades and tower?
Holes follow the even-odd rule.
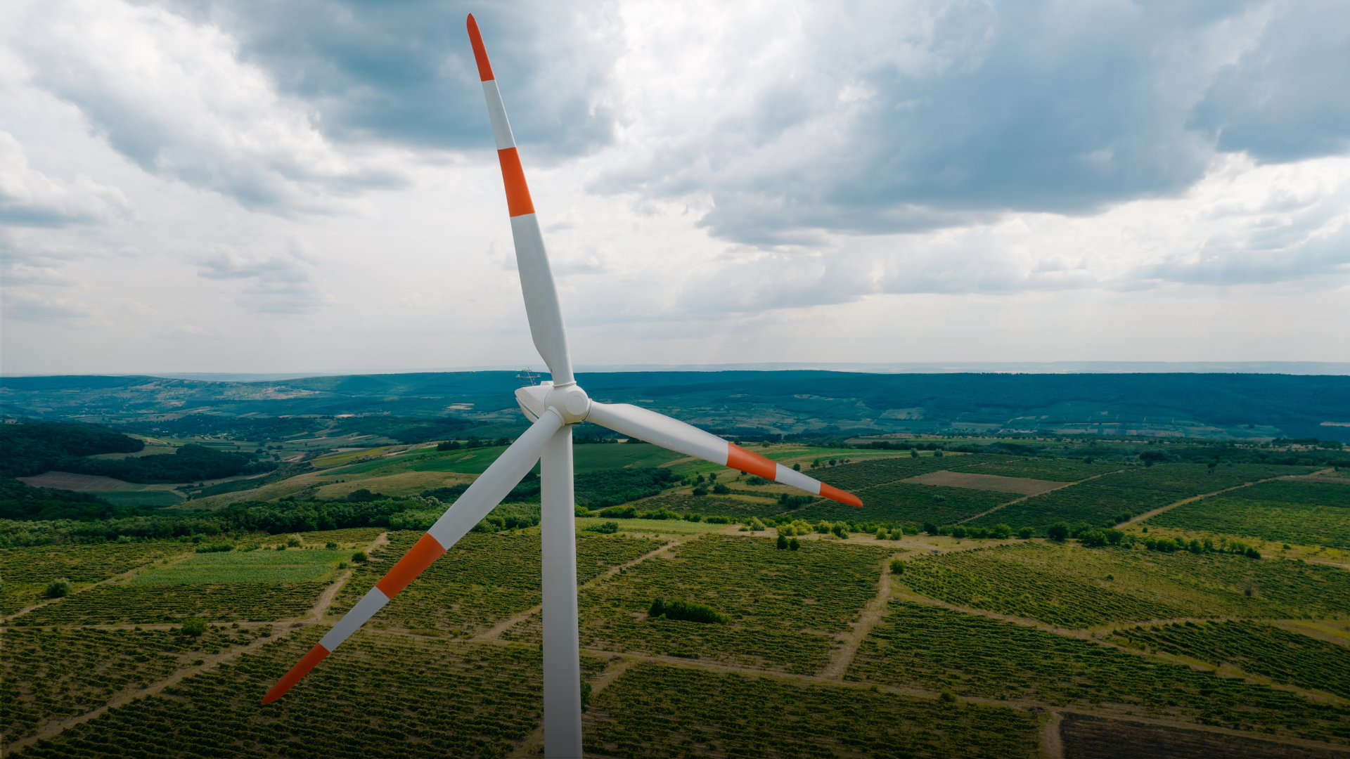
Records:
[[[409,550],[389,573],[319,643],[305,654],[263,697],[271,704],[351,633],[379,612],[441,554],[473,529],[540,462],[544,596],[544,755],[582,755],[580,639],[576,624],[576,532],[572,500],[572,431],[578,421],[593,421],[622,435],[647,440],[684,455],[775,479],[809,493],[853,506],[863,501],[801,471],[751,452],[697,427],[629,404],[590,400],[572,375],[567,332],[558,305],[554,274],[544,239],[529,197],[516,139],[506,122],[493,66],[487,61],[478,23],[468,16],[468,39],[483,81],[487,115],[497,139],[497,158],[506,185],[516,263],[525,294],[525,313],[535,347],[552,373],[552,381],[516,390],[516,401],[533,423],[502,455],[470,485],[459,500]]]

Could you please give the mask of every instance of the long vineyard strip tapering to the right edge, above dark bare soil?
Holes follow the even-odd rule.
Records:
[[[1345,743],[1350,709],[1040,629],[913,602],[890,613],[846,674],[959,696],[1120,706],[1231,729]]]

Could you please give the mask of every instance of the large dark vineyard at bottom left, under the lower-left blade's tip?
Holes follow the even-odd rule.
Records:
[[[502,756],[539,724],[540,654],[360,631],[285,698],[304,628],[28,747],[23,756]]]

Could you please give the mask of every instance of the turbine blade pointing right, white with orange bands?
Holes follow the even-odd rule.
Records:
[[[749,474],[757,474],[783,485],[801,488],[822,498],[830,498],[832,501],[850,506],[863,505],[863,501],[852,493],[832,488],[819,479],[771,462],[756,452],[747,451],[736,443],[730,443],[717,435],[703,432],[698,427],[684,424],[678,419],[671,419],[655,411],[629,404],[591,401],[590,416],[586,417],[586,421],[594,421],[616,432],[622,432],[630,438],[647,440],[648,443],[655,443],[684,455],[698,456],[713,463],[748,471]]]

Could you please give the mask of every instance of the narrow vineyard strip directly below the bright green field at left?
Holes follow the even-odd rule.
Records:
[[[302,617],[328,582],[270,585],[99,585],[39,606],[11,621],[16,625],[176,624],[186,617],[207,621],[275,621]]]

